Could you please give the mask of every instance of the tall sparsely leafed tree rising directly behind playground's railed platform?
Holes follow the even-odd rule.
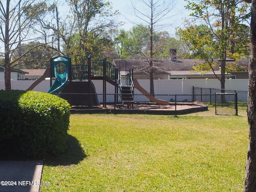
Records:
[[[103,0],[66,0],[70,15],[56,18],[57,24],[48,23],[63,42],[62,54],[102,57],[113,46],[108,30],[116,28],[117,11],[112,12],[110,2]]]

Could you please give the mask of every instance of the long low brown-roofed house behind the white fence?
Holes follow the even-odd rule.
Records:
[[[218,63],[218,66],[214,68],[214,72],[196,72],[193,70],[193,66],[201,64],[202,60],[196,59],[177,59],[171,58],[169,60],[154,60],[154,68],[156,70],[154,79],[216,79],[216,76],[220,78],[220,61],[213,60]],[[134,71],[134,77],[137,79],[149,79],[149,75],[146,70],[149,67],[147,61],[144,60],[113,60],[114,64],[120,70],[120,75],[125,76],[126,70],[132,68]],[[244,71],[241,72],[228,72],[225,74],[227,79],[248,79],[248,59],[242,59],[240,61],[227,60],[227,64],[236,63],[240,67],[244,67]]]

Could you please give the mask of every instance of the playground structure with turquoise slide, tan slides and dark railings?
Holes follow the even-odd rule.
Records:
[[[119,68],[125,60],[120,60]],[[126,66],[125,66],[126,68]],[[91,56],[84,59],[83,56],[75,57],[75,64],[71,63],[71,58],[64,56],[56,56],[50,60],[50,68],[38,78],[27,90],[32,90],[45,78],[50,78],[50,90],[48,93],[59,94],[60,97],[68,100],[71,106],[92,106],[100,105],[96,95],[92,80],[103,81],[103,107],[106,108],[106,82],[115,87],[115,107],[127,105],[130,109],[133,107],[134,88],[138,89],[142,94],[149,98],[151,102],[158,105],[168,105],[166,100],[158,100],[150,95],[144,88],[140,86],[138,81],[133,78],[133,70],[126,69],[126,81],[122,85],[120,72],[118,67],[103,60],[92,60]],[[55,78],[54,83],[52,80]]]

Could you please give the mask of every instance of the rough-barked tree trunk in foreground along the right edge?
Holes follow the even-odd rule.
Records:
[[[251,56],[248,64],[248,125],[249,143],[246,160],[244,192],[256,191],[256,0],[251,5]]]

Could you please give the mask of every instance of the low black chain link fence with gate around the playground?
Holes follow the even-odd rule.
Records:
[[[119,94],[56,94],[68,100],[72,106],[72,113],[113,113],[113,114],[159,114],[159,115],[187,115],[214,116],[246,115],[245,102],[237,104],[236,94],[194,94],[154,95],[158,100],[166,100],[169,105],[159,105],[150,101],[144,94],[134,94],[130,102],[122,102]],[[208,98],[206,100],[206,98]],[[209,101],[211,100],[211,101]],[[103,103],[103,101],[106,101]],[[221,102],[222,101],[222,102]],[[225,102],[224,102],[225,101]]]

